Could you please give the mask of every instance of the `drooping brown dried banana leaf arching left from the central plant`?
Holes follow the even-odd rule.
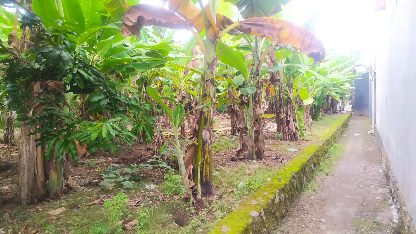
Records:
[[[121,34],[139,36],[143,26],[155,25],[172,29],[187,29],[186,22],[163,7],[149,4],[133,5],[124,13]]]

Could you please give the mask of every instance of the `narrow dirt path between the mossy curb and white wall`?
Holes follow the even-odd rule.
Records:
[[[392,234],[389,187],[367,117],[354,116],[338,144],[334,175],[319,175],[273,234]],[[359,133],[360,135],[355,135]]]

